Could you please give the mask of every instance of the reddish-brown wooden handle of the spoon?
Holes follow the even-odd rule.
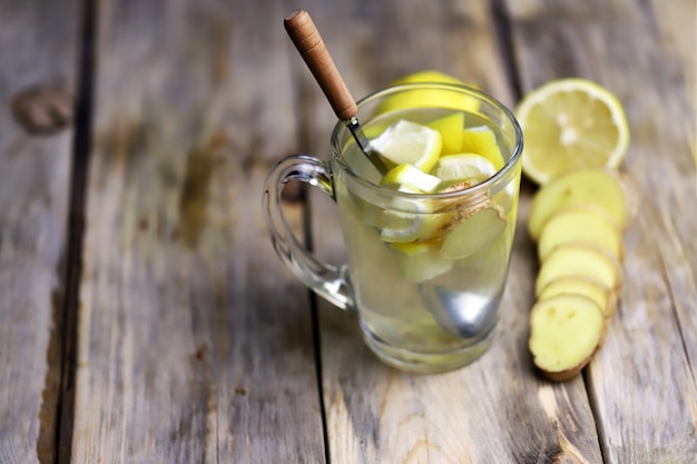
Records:
[[[354,117],[359,111],[356,102],[338,73],[310,13],[305,10],[295,10],[285,17],[283,24],[336,117],[343,121]]]

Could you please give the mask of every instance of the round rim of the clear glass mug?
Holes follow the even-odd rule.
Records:
[[[498,99],[495,99],[494,97],[490,96],[489,93],[484,93],[483,91],[468,86],[468,85],[463,85],[463,83],[444,83],[444,82],[413,82],[413,83],[400,83],[396,86],[390,86],[390,87],[385,87],[383,89],[376,90],[372,93],[369,93],[367,96],[361,98],[356,105],[359,106],[359,108],[363,105],[366,103],[371,100],[375,100],[380,97],[383,97],[385,95],[389,93],[396,93],[400,91],[404,91],[404,90],[414,90],[414,89],[419,89],[419,88],[430,88],[430,89],[441,89],[441,90],[451,90],[451,91],[458,91],[460,93],[470,93],[471,96],[480,99],[480,100],[485,100],[488,103],[492,105],[493,107],[495,107],[498,110],[500,110],[512,124],[513,126],[513,134],[514,134],[514,139],[516,139],[516,144],[513,146],[513,152],[511,154],[511,157],[505,161],[505,164],[503,165],[503,167],[501,169],[499,169],[493,176],[489,177],[487,180],[477,184],[472,187],[467,187],[463,188],[461,190],[455,190],[455,191],[450,191],[450,192],[440,192],[440,194],[410,194],[410,192],[405,192],[405,191],[399,191],[399,190],[392,190],[392,189],[387,189],[384,187],[381,187],[376,184],[371,182],[370,180],[364,179],[363,177],[359,176],[359,174],[353,170],[353,168],[351,166],[348,166],[346,164],[346,161],[343,159],[343,156],[336,156],[337,152],[341,152],[343,155],[343,150],[340,148],[338,145],[338,134],[342,130],[348,130],[348,128],[346,127],[346,121],[336,121],[336,124],[334,125],[334,129],[332,130],[332,138],[331,138],[331,144],[332,144],[332,158],[334,158],[334,160],[336,162],[340,164],[340,166],[342,167],[343,171],[346,172],[347,175],[350,175],[352,177],[352,179],[354,179],[356,182],[361,184],[363,187],[365,188],[370,188],[372,190],[377,190],[384,194],[390,194],[390,195],[394,195],[395,197],[403,197],[403,198],[412,198],[412,199],[419,199],[419,198],[454,198],[454,197],[459,197],[461,195],[470,195],[472,192],[477,192],[479,190],[483,190],[487,189],[489,187],[491,187],[492,185],[495,185],[497,182],[499,182],[499,180],[503,177],[505,177],[508,175],[508,172],[513,169],[513,166],[516,165],[516,162],[518,161],[518,159],[521,157],[522,155],[522,147],[523,147],[523,137],[522,137],[522,129],[520,128],[520,125],[518,124],[518,120],[516,119],[516,116],[513,115],[513,112],[508,109],[508,107],[505,107],[502,102],[500,102]]]

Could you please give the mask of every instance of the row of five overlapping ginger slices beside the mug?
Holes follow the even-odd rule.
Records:
[[[606,169],[559,176],[532,199],[528,230],[540,269],[529,348],[552,381],[567,381],[600,349],[617,307],[628,223],[625,190]]]

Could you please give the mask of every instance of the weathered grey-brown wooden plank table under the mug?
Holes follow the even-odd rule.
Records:
[[[580,76],[624,102],[637,214],[603,349],[527,351],[524,184],[500,332],[458,372],[379,363],[281,265],[261,197],[328,154],[283,30],[312,14],[360,97],[439,69],[513,107]],[[0,1],[0,463],[697,462],[691,0]],[[331,201],[287,217],[342,261]]]

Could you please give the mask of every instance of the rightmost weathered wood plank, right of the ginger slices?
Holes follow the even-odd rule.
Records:
[[[695,2],[509,1],[524,90],[581,76],[625,103],[637,216],[607,343],[589,369],[610,463],[697,455]]]

